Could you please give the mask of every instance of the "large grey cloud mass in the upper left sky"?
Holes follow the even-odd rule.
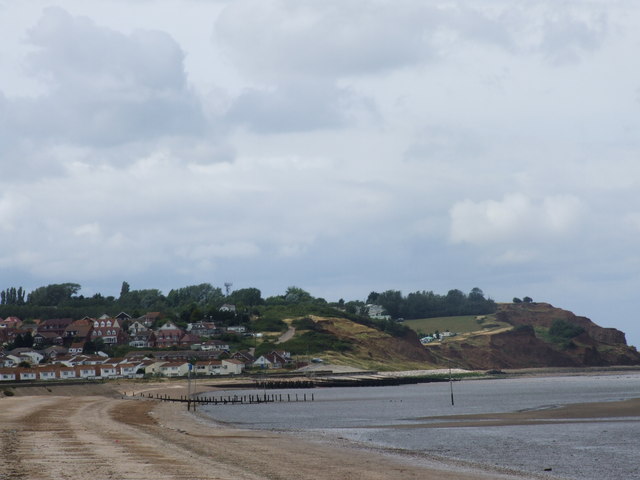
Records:
[[[50,7],[27,41],[36,47],[29,73],[49,90],[11,102],[17,133],[40,142],[113,146],[202,132],[203,112],[187,86],[184,53],[168,34],[124,35]]]

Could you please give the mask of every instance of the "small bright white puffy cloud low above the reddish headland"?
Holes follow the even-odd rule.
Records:
[[[472,245],[521,242],[530,245],[570,235],[579,225],[582,202],[572,195],[533,200],[520,193],[501,201],[463,200],[450,210],[450,237],[454,243]],[[514,252],[507,257],[517,257]]]

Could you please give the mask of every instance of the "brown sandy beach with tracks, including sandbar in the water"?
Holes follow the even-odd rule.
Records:
[[[199,390],[211,388],[200,385]],[[546,478],[221,427],[183,404],[131,397],[183,395],[186,384],[181,382],[34,387],[16,393],[0,396],[1,480]],[[640,401],[442,418],[440,426],[616,416],[640,416]]]

